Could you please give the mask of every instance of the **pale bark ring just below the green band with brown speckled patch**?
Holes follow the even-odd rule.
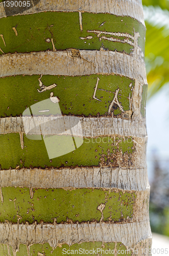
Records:
[[[147,168],[75,167],[0,170],[0,186],[37,188],[103,187],[127,190],[150,188]]]

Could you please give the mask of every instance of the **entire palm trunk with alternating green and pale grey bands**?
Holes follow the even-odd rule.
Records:
[[[141,1],[0,3],[0,25],[0,255],[151,255]]]

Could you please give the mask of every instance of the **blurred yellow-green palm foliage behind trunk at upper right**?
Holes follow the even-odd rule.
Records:
[[[148,99],[169,82],[169,1],[143,0]]]

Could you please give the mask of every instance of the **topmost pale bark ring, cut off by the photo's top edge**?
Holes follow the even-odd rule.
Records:
[[[138,0],[126,0],[125,2],[120,0],[118,4],[115,0],[105,0],[104,2],[97,0],[97,3],[94,0],[85,2],[77,0],[74,2],[65,1],[64,3],[57,0],[41,0],[29,10],[25,10],[22,13],[15,15],[25,15],[44,11],[110,13],[117,16],[130,16],[137,19],[138,22],[145,26],[142,4]],[[0,18],[6,17],[3,3],[0,4],[0,13]]]

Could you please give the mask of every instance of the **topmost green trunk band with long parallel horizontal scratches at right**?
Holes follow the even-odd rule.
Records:
[[[104,24],[103,24],[104,23]],[[107,39],[99,39],[101,36],[111,37],[111,35],[101,34],[99,37],[88,30],[99,30],[106,32],[120,32],[134,35],[139,32],[138,45],[145,51],[145,27],[137,20],[130,17],[117,17],[104,13],[82,13],[82,31],[80,31],[78,12],[43,12],[29,15],[9,16],[0,19],[1,34],[3,40],[0,47],[4,53],[24,53],[33,51],[52,50],[52,41],[57,50],[76,48],[81,50],[100,50],[102,44],[105,49],[126,53],[132,52],[133,46],[128,43],[114,42]],[[100,26],[101,25],[101,26]],[[17,36],[12,28],[16,28]],[[91,39],[80,39],[79,37],[93,37]],[[124,39],[126,36],[113,36]]]

